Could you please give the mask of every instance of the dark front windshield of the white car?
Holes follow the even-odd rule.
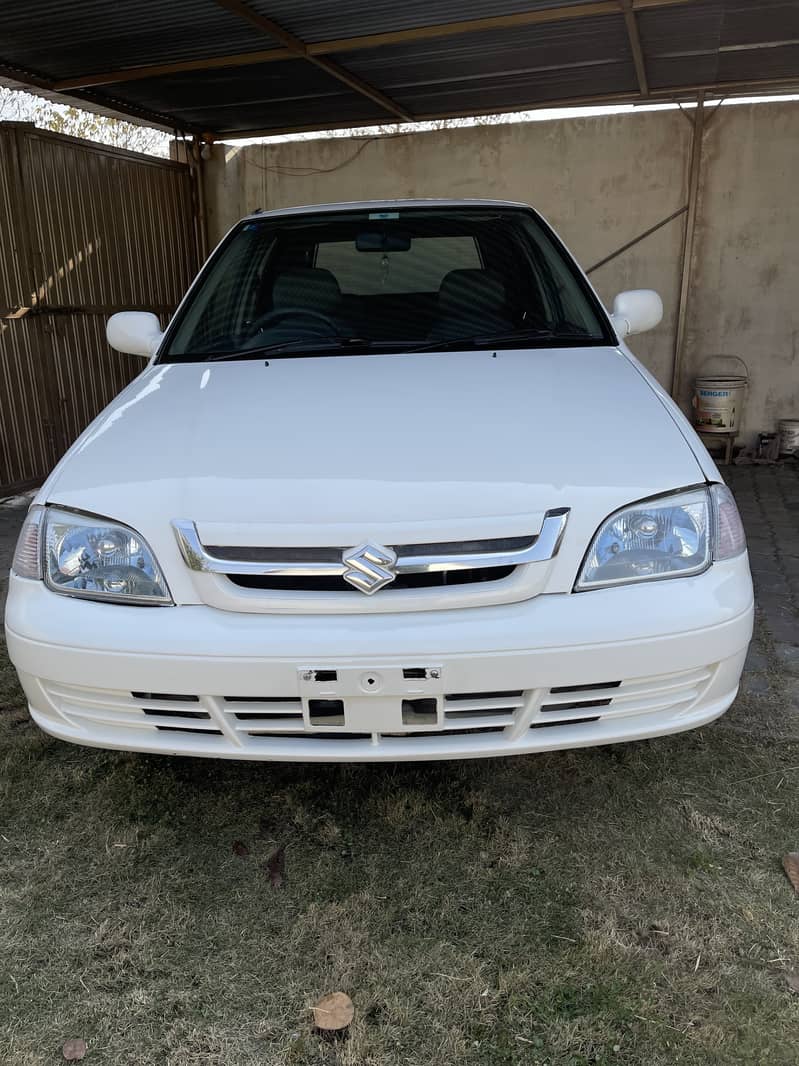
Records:
[[[612,341],[596,296],[533,211],[399,207],[242,222],[158,361]]]

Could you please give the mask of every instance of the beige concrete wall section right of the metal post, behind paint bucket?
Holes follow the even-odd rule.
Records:
[[[799,104],[724,108],[704,138],[680,400],[697,372],[749,367],[745,434],[799,418]],[[706,361],[708,360],[708,361]]]

